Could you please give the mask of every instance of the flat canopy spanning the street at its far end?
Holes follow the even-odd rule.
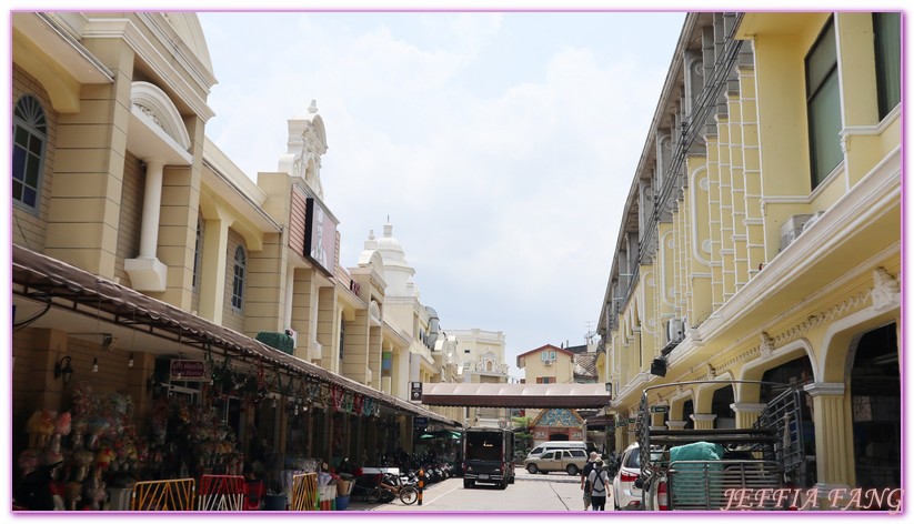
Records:
[[[425,405],[478,407],[605,407],[604,384],[422,384]]]

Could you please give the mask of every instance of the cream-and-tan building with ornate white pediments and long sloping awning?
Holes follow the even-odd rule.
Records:
[[[382,264],[339,260],[314,103],[254,183],[205,137],[193,13],[16,12],[11,72],[14,453],[43,444],[33,413],[90,389],[141,434],[161,402],[208,399],[248,462],[362,460],[409,450],[413,416],[460,425],[406,400],[414,341],[385,322]]]

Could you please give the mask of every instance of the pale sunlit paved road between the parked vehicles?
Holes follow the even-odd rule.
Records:
[[[422,505],[404,505],[400,501],[388,504],[351,502],[349,511],[373,512],[582,512],[583,501],[580,477],[566,473],[531,475],[516,470],[516,481],[500,490],[494,485],[479,484],[464,488],[463,478],[449,478],[429,486],[422,496]],[[612,507],[612,501],[607,501]]]

